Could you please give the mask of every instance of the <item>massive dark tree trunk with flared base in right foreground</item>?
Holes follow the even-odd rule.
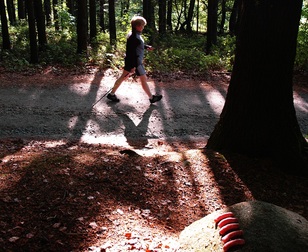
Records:
[[[308,174],[292,90],[301,8],[302,0],[243,1],[232,77],[208,148],[273,157]]]

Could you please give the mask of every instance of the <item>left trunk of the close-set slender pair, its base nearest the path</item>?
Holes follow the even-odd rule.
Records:
[[[29,40],[30,40],[30,62],[32,64],[38,63],[38,47],[36,41],[36,28],[34,18],[34,8],[32,0],[26,0],[28,25],[29,25]]]

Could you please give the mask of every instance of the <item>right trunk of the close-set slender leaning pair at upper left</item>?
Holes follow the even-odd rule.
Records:
[[[43,14],[42,0],[33,0],[33,7],[36,14],[36,27],[39,50],[42,51],[47,45],[45,15]]]

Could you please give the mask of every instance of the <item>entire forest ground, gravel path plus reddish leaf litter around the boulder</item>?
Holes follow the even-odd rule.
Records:
[[[307,73],[294,105],[308,132]],[[308,179],[268,159],[204,149],[229,74],[136,78],[49,69],[0,77],[0,251],[175,251],[180,232],[226,206],[262,200],[308,220]],[[126,85],[126,86],[125,86]]]

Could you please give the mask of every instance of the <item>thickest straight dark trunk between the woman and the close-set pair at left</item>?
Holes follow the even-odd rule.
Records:
[[[77,1],[77,53],[85,54],[88,48],[87,33],[88,33],[88,22],[87,22],[87,0]]]

